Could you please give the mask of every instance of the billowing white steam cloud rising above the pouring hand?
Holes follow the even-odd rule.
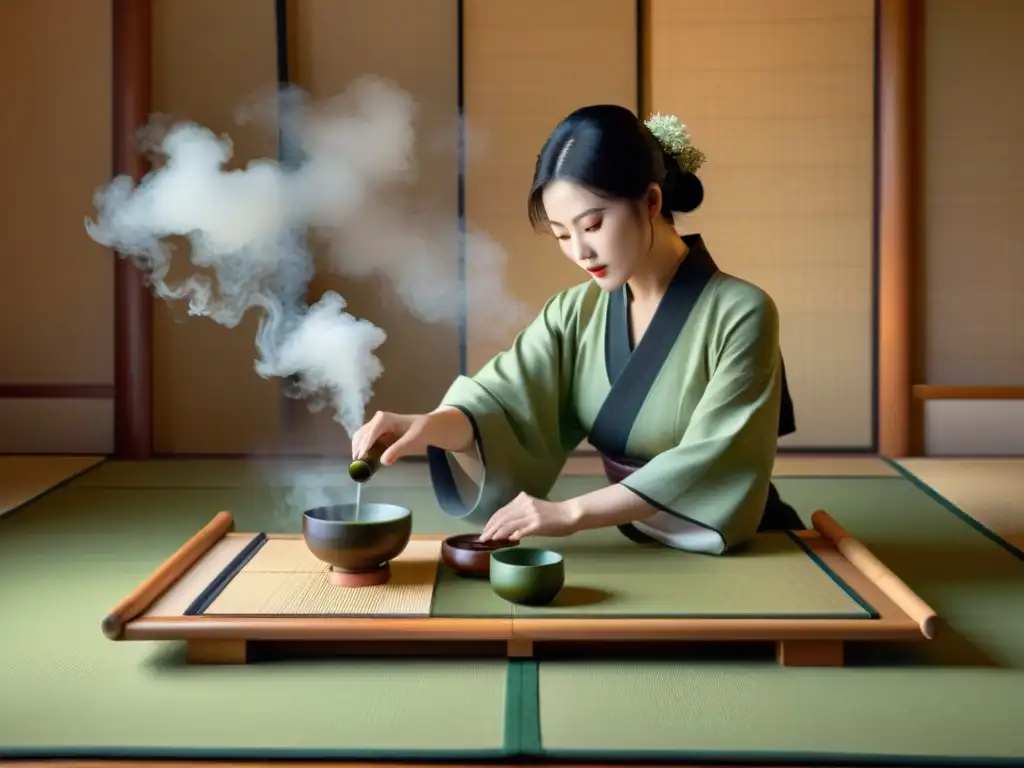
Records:
[[[384,372],[376,350],[387,336],[347,312],[336,292],[307,305],[316,270],[310,242],[323,244],[327,269],[384,278],[418,317],[451,323],[460,316],[461,289],[439,275],[452,273],[445,265],[460,247],[458,222],[407,204],[417,105],[387,81],[360,78],[323,104],[291,89],[244,117],[276,118],[294,167],[260,160],[225,170],[228,137],[189,122],[155,124],[141,138],[161,162],[138,184],[118,177],[100,188],[86,230],[130,258],[156,296],[186,302],[191,315],[230,328],[247,311],[260,312],[255,372],[287,380],[286,394],[311,410],[332,408],[351,436]],[[167,242],[174,237],[187,239],[196,268],[176,282]],[[524,307],[501,289],[501,249],[479,234],[461,245],[474,280],[474,325],[521,323]]]

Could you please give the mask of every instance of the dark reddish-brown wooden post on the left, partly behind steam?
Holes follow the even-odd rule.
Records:
[[[114,175],[137,181],[147,170],[136,133],[150,114],[151,0],[112,0]],[[114,453],[153,453],[153,299],[128,259],[114,263]]]

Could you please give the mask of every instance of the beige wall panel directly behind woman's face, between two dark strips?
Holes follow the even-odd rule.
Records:
[[[580,270],[526,218],[534,164],[548,134],[586,103],[637,106],[632,0],[465,0],[463,68],[471,156],[466,218],[507,254],[505,291],[530,315]],[[474,323],[468,286],[467,369],[475,372],[518,329]]]

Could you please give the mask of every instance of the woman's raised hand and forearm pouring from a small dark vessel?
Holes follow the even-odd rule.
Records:
[[[388,446],[381,455],[381,464],[388,466],[403,456],[423,454],[427,445],[465,451],[473,444],[473,426],[465,414],[454,408],[429,414],[378,411],[352,435],[352,458],[366,456],[375,442]]]

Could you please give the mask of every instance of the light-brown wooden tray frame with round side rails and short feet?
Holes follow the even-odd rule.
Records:
[[[815,554],[879,617],[863,618],[451,618],[302,616],[147,616],[148,608],[213,546],[233,534],[229,512],[219,512],[154,573],[121,601],[101,624],[111,640],[184,640],[194,664],[245,664],[253,643],[382,643],[407,649],[497,644],[511,657],[528,657],[535,643],[647,643],[771,641],[783,666],[839,667],[850,641],[913,641],[935,637],[935,611],[866,547],[823,510],[811,516],[813,529],[798,531]],[[268,535],[294,539],[300,534]],[[438,536],[414,536],[439,540]]]

